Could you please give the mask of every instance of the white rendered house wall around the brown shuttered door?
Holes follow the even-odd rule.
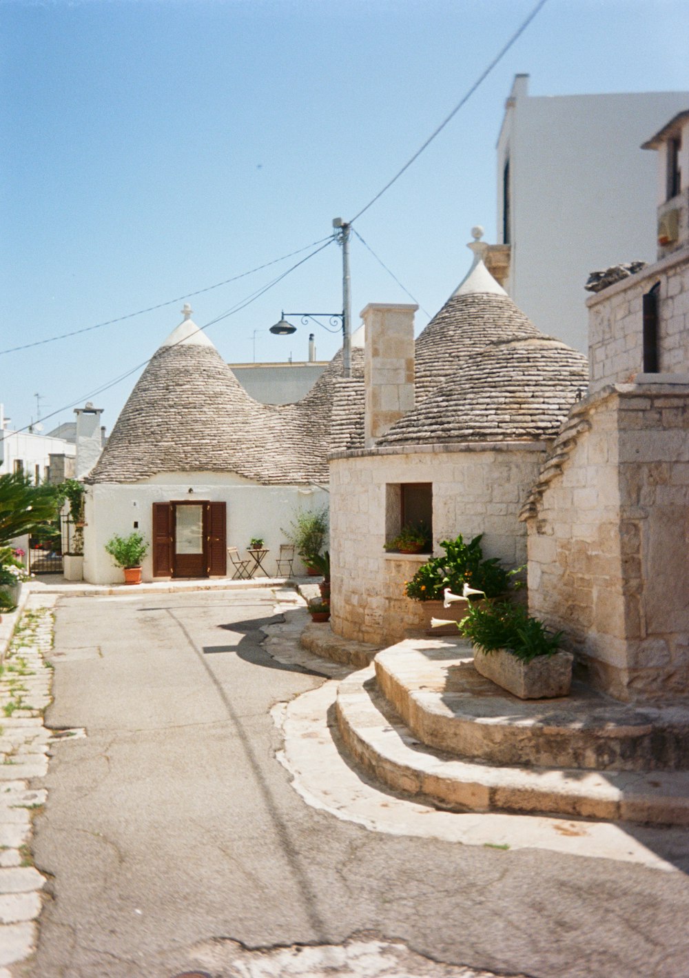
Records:
[[[189,489],[194,493],[190,494]],[[251,537],[263,537],[270,554],[266,570],[276,572],[280,544],[287,539],[282,527],[289,528],[299,510],[322,509],[328,505],[323,489],[296,486],[260,486],[232,474],[180,472],[156,476],[132,484],[97,483],[87,486],[84,530],[84,580],[92,584],[121,584],[124,575],[108,556],[105,546],[114,533],[127,536],[135,529],[151,545],[153,503],[172,500],[209,500],[227,504],[227,544],[243,553]],[[142,565],[143,579],[153,580],[151,550]],[[229,577],[234,568],[229,566]],[[301,561],[294,562],[295,573],[305,573]],[[160,580],[160,578],[155,578]]]

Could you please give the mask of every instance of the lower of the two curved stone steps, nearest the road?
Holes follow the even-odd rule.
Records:
[[[440,808],[689,824],[684,772],[497,767],[427,747],[376,689],[374,666],[339,684],[336,716],[348,750],[368,774]]]

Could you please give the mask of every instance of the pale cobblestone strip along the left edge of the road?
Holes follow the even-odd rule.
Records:
[[[37,939],[45,878],[31,862],[31,821],[46,792],[52,733],[43,726],[51,700],[54,599],[30,598],[0,674],[0,978],[29,956]]]

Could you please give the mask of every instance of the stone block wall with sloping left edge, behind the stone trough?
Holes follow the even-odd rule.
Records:
[[[689,695],[689,386],[620,385],[576,411],[528,519],[530,609],[598,689]]]

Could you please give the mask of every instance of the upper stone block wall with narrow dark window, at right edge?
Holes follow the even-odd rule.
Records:
[[[589,309],[589,393],[643,372],[643,295],[660,282],[660,372],[689,374],[689,249],[597,292]]]

